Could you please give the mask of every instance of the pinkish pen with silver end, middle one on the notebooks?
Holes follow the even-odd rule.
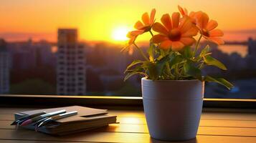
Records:
[[[47,113],[47,114],[42,114],[42,115],[39,115],[37,117],[33,117],[31,119],[27,119],[26,121],[24,121],[21,126],[27,126],[28,124],[32,124],[34,122],[37,122],[39,121],[40,119],[44,119],[46,117],[52,117],[54,115],[57,115],[57,114],[62,114],[62,113],[65,113],[66,110],[65,109],[62,109],[60,111],[57,111],[57,112],[50,112],[50,113]]]

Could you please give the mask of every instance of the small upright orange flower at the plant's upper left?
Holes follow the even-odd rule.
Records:
[[[134,25],[134,28],[138,30],[143,30],[143,32],[150,31],[155,21],[155,14],[156,14],[156,9],[151,10],[150,16],[148,16],[147,12],[144,13],[141,17],[143,23],[141,21],[137,21],[136,24]]]

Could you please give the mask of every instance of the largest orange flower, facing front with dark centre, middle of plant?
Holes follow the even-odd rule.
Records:
[[[180,19],[180,14],[175,12],[170,17],[169,14],[163,14],[161,23],[153,24],[152,29],[159,34],[152,37],[155,44],[160,43],[161,49],[172,49],[173,51],[180,51],[184,46],[194,44],[198,29],[194,28],[194,24],[184,17]]]

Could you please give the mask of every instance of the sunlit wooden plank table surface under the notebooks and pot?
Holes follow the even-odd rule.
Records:
[[[0,142],[13,143],[66,143],[66,142],[163,142],[152,139],[148,134],[143,111],[109,110],[110,114],[118,116],[120,124],[110,124],[108,127],[90,132],[54,137],[27,129],[16,130],[10,126],[14,120],[14,112],[32,108],[0,107]],[[203,112],[196,139],[186,143],[207,142],[256,142],[256,114],[231,112]]]

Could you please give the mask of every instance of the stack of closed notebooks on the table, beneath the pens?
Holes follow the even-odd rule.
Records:
[[[38,109],[27,112],[15,113],[15,119],[19,119],[26,115],[37,114],[39,112],[55,112],[58,110],[65,109],[67,112],[77,111],[75,116],[58,119],[54,122],[46,124],[44,127],[37,129],[38,132],[44,132],[46,134],[64,135],[75,132],[82,132],[89,129],[96,129],[98,127],[104,127],[108,124],[116,123],[116,116],[108,114],[106,109],[93,109],[88,107],[60,107],[52,109]],[[34,124],[24,126],[27,129],[35,129]]]

